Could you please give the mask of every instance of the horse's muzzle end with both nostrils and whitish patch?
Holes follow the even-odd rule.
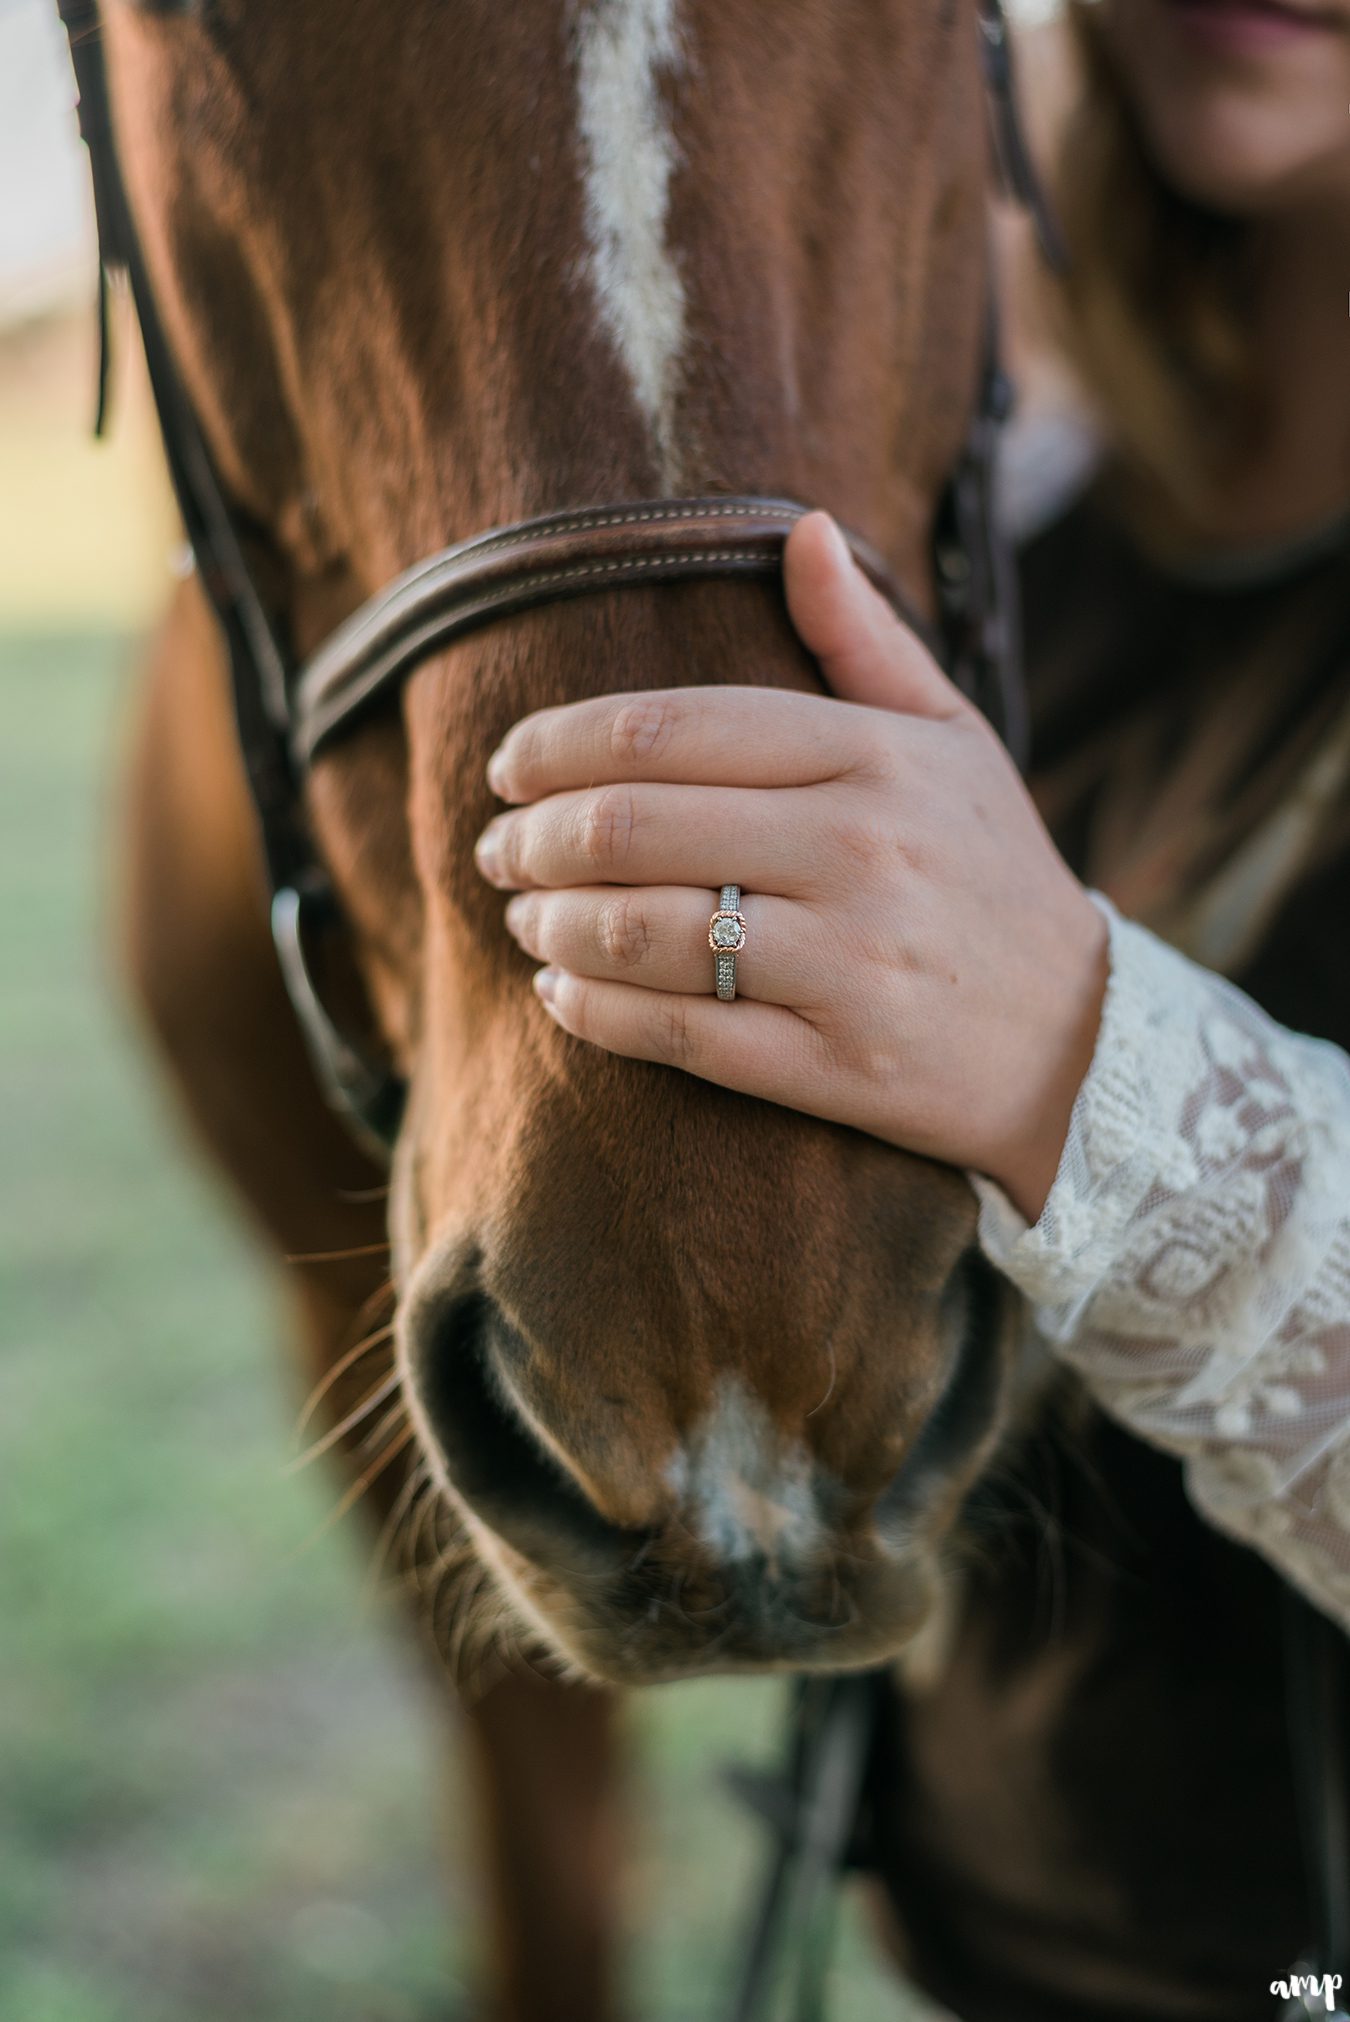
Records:
[[[974,1306],[964,1292],[946,1381],[899,1466],[863,1482],[736,1367],[691,1385],[683,1426],[604,1379],[562,1409],[475,1256],[410,1286],[400,1353],[447,1498],[556,1654],[612,1684],[849,1670],[895,1654],[940,1593],[956,1490],[1000,1395],[1000,1302]]]

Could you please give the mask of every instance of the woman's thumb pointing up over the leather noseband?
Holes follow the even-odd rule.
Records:
[[[796,522],[784,576],[792,623],[835,696],[911,716],[956,716],[964,708],[928,647],[857,566],[829,514]]]

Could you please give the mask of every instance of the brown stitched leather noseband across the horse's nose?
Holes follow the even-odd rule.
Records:
[[[299,770],[430,653],[479,625],[566,596],[697,576],[782,574],[782,544],[808,508],[752,495],[637,499],[544,514],[493,528],[418,562],[362,605],[301,669],[291,754]],[[857,534],[849,546],[883,596],[936,653],[885,560]]]

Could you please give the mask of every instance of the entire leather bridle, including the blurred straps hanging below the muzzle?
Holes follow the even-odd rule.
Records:
[[[97,0],[57,0],[57,6],[71,44],[99,231],[95,431],[103,431],[109,388],[107,287],[109,275],[121,271],[141,328],[170,479],[226,645],[238,744],[273,892],[271,922],[281,973],[329,1102],[368,1148],[388,1153],[402,1114],[402,1084],[342,1029],[311,967],[311,946],[327,928],[342,926],[342,914],[305,821],[303,778],[309,764],[426,657],[495,619],[629,584],[711,576],[778,580],[784,540],[808,508],[794,499],[752,495],[635,499],[493,528],[406,570],[340,625],[307,663],[293,665],[285,625],[249,562],[259,530],[228,497],[160,321],[113,140]],[[978,20],[1004,186],[1035,220],[1045,257],[1063,267],[1059,233],[1017,115],[1000,0],[978,0]],[[936,627],[913,613],[887,562],[867,542],[845,534],[869,578],[1025,764],[1017,582],[994,518],[994,455],[1008,408],[1010,384],[998,362],[990,311],[980,396],[934,520]],[[1318,1973],[1340,1971],[1350,1984],[1344,1636],[1291,1589],[1285,1599],[1293,1785],[1316,1919],[1312,1961]],[[806,1711],[798,1707],[796,1767],[776,1820],[782,1862],[760,1911],[760,1931],[738,1994],[738,2022],[760,2014],[772,1925],[788,1876],[802,1882],[798,1909],[804,1919],[810,1893],[847,1860],[857,1806],[843,1802],[843,1794],[851,1789],[857,1796],[861,1787],[859,1751],[869,1727],[857,1709],[859,1694],[873,1684],[843,1678],[829,1686],[833,1696],[825,1709],[814,1709],[810,1694],[802,1701]],[[1293,2012],[1287,2010],[1289,2016]]]

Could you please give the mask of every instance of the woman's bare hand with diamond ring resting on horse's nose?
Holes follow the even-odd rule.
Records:
[[[1006,752],[810,514],[792,621],[833,694],[681,687],[519,722],[479,867],[554,1019],[614,1053],[996,1179],[1037,1219],[1105,989],[1105,922]],[[707,918],[742,886],[736,1003]]]

